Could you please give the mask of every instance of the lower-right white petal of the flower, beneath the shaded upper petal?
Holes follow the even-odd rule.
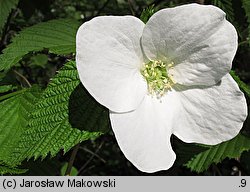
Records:
[[[182,111],[174,134],[185,142],[214,145],[235,137],[247,117],[247,104],[227,74],[218,85],[180,92]]]

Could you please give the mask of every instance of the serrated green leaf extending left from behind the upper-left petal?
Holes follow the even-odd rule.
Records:
[[[0,55],[0,70],[8,70],[27,53],[45,48],[55,54],[74,53],[79,25],[78,21],[58,19],[22,30]]]

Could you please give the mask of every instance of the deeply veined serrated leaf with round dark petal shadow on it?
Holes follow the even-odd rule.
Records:
[[[84,89],[75,62],[68,62],[49,83],[31,115],[29,128],[9,160],[56,155],[95,139],[109,128],[109,113]]]

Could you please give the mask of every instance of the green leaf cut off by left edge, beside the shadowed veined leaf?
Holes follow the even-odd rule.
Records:
[[[0,102],[0,161],[7,161],[28,125],[29,113],[40,94],[33,87]]]

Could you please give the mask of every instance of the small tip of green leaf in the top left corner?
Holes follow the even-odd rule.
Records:
[[[18,1],[19,0],[0,0],[0,33],[11,10],[17,6]]]

